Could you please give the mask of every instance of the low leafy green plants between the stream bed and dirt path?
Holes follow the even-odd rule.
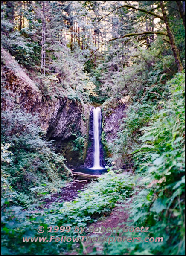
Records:
[[[3,251],[5,254],[59,254],[76,247],[76,243],[67,242],[23,242],[23,237],[62,236],[64,233],[48,233],[47,227],[71,226],[67,236],[78,236],[75,226],[87,227],[88,223],[106,215],[115,207],[116,202],[131,194],[133,187],[129,175],[116,175],[113,171],[102,175],[97,182],[90,183],[79,192],[74,201],[55,203],[51,208],[39,214],[23,211],[22,207],[8,207],[3,211]],[[44,233],[37,233],[37,227],[43,226]],[[87,231],[87,230],[86,230]],[[86,232],[83,233],[85,235]],[[81,247],[81,243],[80,243]]]

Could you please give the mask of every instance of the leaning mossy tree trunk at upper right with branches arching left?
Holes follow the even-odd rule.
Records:
[[[175,44],[174,35],[173,35],[173,33],[171,32],[171,29],[170,29],[170,25],[169,25],[169,22],[168,22],[168,18],[167,18],[167,14],[166,14],[166,10],[165,10],[165,6],[163,4],[163,1],[160,1],[160,6],[161,6],[161,9],[162,9],[162,13],[163,13],[163,20],[166,24],[167,34],[169,36],[169,41],[170,41],[170,44],[171,44],[171,48],[172,48],[172,51],[173,51],[173,54],[174,54],[174,59],[175,59],[175,62],[177,64],[178,71],[180,72],[180,71],[183,70],[183,66],[181,64],[179,51],[178,51],[177,46]]]

